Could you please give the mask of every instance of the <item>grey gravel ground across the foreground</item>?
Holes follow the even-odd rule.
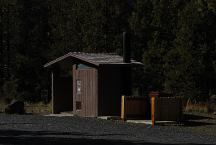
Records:
[[[0,114],[0,144],[202,145],[215,136],[185,126],[156,126],[80,117]]]

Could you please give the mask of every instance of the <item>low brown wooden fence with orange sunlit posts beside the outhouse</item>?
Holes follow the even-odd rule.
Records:
[[[149,114],[153,125],[155,121],[181,121],[182,100],[179,97],[162,97],[158,92],[152,92],[146,98],[122,96],[121,119],[148,119]]]

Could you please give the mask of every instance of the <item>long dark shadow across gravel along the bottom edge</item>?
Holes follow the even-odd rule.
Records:
[[[71,135],[71,137],[63,137]],[[102,134],[97,136],[109,136],[111,134]],[[115,134],[112,134],[115,135]],[[77,132],[47,132],[47,131],[21,131],[21,130],[0,130],[0,144],[4,145],[164,145],[162,143],[151,143],[144,140],[127,141],[111,139],[90,139],[87,134]],[[90,136],[90,135],[89,135]],[[96,137],[96,136],[95,136]],[[169,144],[169,145],[189,145],[188,144]],[[201,145],[201,144],[192,144]],[[210,144],[209,144],[210,145]]]

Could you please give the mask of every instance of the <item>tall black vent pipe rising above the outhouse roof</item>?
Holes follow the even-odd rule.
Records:
[[[123,32],[123,62],[131,62],[130,34]]]

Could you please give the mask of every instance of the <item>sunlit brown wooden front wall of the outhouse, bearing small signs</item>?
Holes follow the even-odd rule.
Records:
[[[95,68],[76,69],[73,66],[74,114],[85,117],[96,117],[98,110],[98,71]],[[81,94],[77,94],[77,80],[81,81]],[[76,109],[76,102],[81,101],[81,110]]]

